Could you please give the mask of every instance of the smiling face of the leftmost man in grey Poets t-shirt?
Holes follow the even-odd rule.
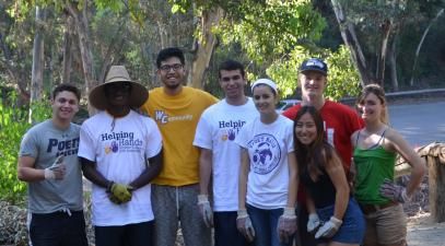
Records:
[[[52,118],[61,121],[71,121],[79,112],[79,99],[74,93],[61,91],[51,99]]]

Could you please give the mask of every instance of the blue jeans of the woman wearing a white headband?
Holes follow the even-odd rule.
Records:
[[[258,209],[246,206],[247,213],[255,229],[255,246],[291,246],[292,236],[288,244],[281,243],[278,236],[278,219],[283,214],[283,209]]]

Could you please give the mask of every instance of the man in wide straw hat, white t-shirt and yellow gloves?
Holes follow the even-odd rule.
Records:
[[[162,139],[151,118],[132,110],[148,97],[124,66],[112,66],[105,83],[90,93],[101,112],[81,127],[79,156],[93,183],[97,246],[151,245],[150,181],[162,168]]]

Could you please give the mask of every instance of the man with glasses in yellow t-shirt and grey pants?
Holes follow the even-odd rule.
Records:
[[[153,180],[155,246],[174,246],[180,221],[186,246],[211,245],[210,229],[198,209],[199,150],[192,145],[202,112],[218,102],[211,94],[184,86],[184,52],[166,48],[156,58],[162,87],[150,91],[141,109],[157,124],[164,144],[164,165]]]

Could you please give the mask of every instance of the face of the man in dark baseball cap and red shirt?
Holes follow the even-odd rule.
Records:
[[[316,71],[306,71],[298,75],[302,86],[302,97],[308,102],[323,98],[326,87],[326,75]]]

